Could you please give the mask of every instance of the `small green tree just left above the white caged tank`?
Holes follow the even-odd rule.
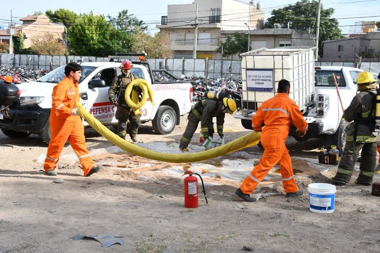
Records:
[[[248,36],[243,34],[235,33],[233,36],[227,36],[225,42],[220,42],[217,48],[218,53],[222,53],[222,57],[231,57],[231,60],[236,54],[244,53],[247,51]]]

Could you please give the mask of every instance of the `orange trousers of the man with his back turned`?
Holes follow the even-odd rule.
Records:
[[[286,126],[266,126],[261,134],[261,143],[264,147],[263,156],[259,164],[256,165],[240,189],[245,194],[251,194],[266,174],[277,164],[280,164],[280,173],[282,185],[285,192],[296,192],[298,187],[293,177],[292,161],[289,151],[285,146],[285,140],[288,136],[289,128]]]

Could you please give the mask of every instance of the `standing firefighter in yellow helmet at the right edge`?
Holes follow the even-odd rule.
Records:
[[[359,93],[344,110],[343,117],[351,122],[346,131],[346,144],[338,165],[338,171],[331,182],[345,185],[351,178],[356,157],[362,149],[359,177],[356,184],[370,185],[376,168],[376,149],[380,136],[375,136],[376,128],[376,79],[370,72],[356,76]]]

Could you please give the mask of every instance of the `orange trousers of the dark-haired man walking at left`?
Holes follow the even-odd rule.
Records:
[[[59,160],[59,155],[67,140],[73,147],[82,166],[83,175],[91,170],[94,162],[92,161],[85,143],[83,123],[78,116],[70,116],[67,120],[54,120],[50,118],[51,138],[47,147],[47,154],[43,169],[45,171],[55,169]]]

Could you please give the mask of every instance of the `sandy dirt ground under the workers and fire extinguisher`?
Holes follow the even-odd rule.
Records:
[[[173,133],[162,136],[147,123],[139,138],[144,144],[178,145],[185,127],[183,116]],[[230,115],[225,129],[226,141],[248,133]],[[85,134],[89,150],[98,151],[92,155],[95,163],[105,166],[91,177],[81,176],[77,162],[62,162],[57,177],[45,176],[40,161],[47,147],[37,135],[9,139],[0,134],[0,253],[238,253],[243,247],[257,253],[380,252],[380,197],[371,195],[371,186],[353,183],[357,171],[349,185],[338,187],[334,213],[309,211],[307,185],[336,172],[336,166],[317,164],[316,151],[291,152],[301,197],[242,202],[234,191],[244,176],[216,175],[205,177],[208,205],[199,192],[199,207],[187,209],[183,178],[170,172],[193,164],[108,153],[104,148],[112,144],[92,129]],[[198,138],[195,134],[191,144]],[[73,153],[66,146],[61,157]],[[255,146],[197,167],[222,164],[247,175],[261,153]],[[56,179],[64,183],[53,183]],[[272,177],[257,192],[283,189]],[[71,240],[76,234],[119,236],[124,243],[103,248],[93,240]]]

